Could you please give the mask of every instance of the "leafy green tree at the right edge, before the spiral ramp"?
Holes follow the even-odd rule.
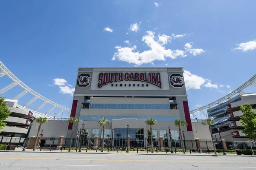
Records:
[[[240,106],[240,111],[243,112],[243,116],[240,116],[240,122],[244,130],[242,132],[251,140],[256,140],[256,116],[252,106],[245,103]]]

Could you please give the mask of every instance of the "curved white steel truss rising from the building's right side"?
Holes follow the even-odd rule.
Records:
[[[220,99],[216,100],[215,102],[211,102],[208,105],[205,105],[201,108],[195,109],[190,111],[189,113],[193,114],[195,112],[198,111],[202,111],[204,109],[210,108],[212,106],[218,105],[221,102],[224,102],[227,99],[230,99],[232,96],[235,96],[236,94],[240,93],[241,91],[243,91],[245,88],[247,88],[249,85],[254,85],[254,82],[256,81],[256,74],[253,75],[253,77],[251,77],[249,80],[247,80],[247,82],[245,82],[244,84],[242,84],[239,88],[237,88],[236,90],[230,92],[229,94],[227,94],[224,97],[221,97]]]

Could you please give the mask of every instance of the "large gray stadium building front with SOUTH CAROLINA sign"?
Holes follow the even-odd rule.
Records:
[[[160,136],[178,138],[174,120],[187,122],[183,127],[186,140],[194,140],[190,120],[183,68],[78,68],[76,88],[70,116],[80,119],[73,138],[84,124],[87,138],[102,138],[99,119],[110,120],[105,127],[105,139],[113,139],[113,146],[125,146],[127,125],[131,147],[147,145],[148,129],[145,119],[154,118],[154,145]],[[71,137],[68,125],[67,137]],[[168,135],[167,135],[168,134]]]

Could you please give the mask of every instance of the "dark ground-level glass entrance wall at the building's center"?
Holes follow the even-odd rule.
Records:
[[[143,129],[129,128],[130,147],[144,147],[144,131]],[[127,128],[114,128],[114,147],[126,147]]]

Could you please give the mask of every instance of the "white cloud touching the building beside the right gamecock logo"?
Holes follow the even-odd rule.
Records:
[[[191,74],[190,71],[184,70],[183,73],[186,89],[201,89],[201,85],[207,81],[203,77],[197,76],[195,74]]]

